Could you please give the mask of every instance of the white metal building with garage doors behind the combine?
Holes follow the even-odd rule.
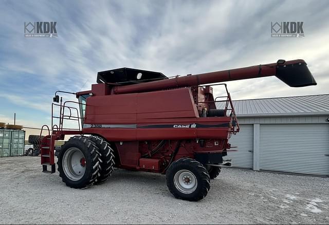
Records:
[[[232,166],[329,176],[329,95],[233,101]],[[222,108],[221,104],[217,108]]]

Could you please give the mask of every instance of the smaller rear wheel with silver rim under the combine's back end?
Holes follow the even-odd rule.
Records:
[[[190,158],[181,158],[173,162],[166,173],[169,191],[183,200],[198,201],[207,196],[210,189],[210,177],[201,163]]]

